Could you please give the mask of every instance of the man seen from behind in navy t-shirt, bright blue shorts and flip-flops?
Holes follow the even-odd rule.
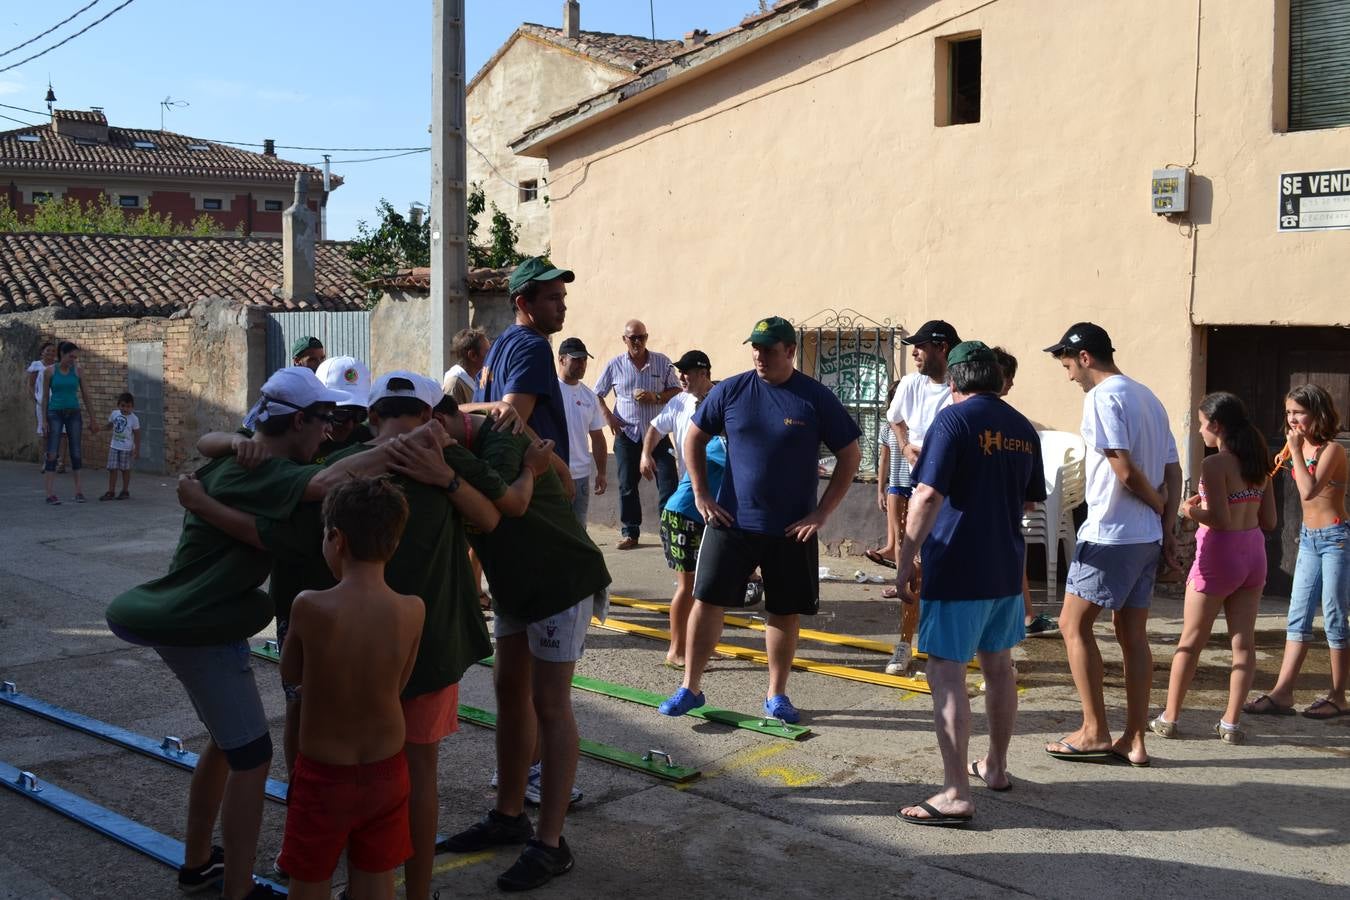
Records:
[[[942,791],[900,810],[915,824],[965,824],[975,804],[971,776],[1007,791],[1007,749],[1017,718],[1013,648],[1026,637],[1022,617],[1022,513],[1045,499],[1041,440],[1031,422],[999,399],[1003,370],[977,340],[948,356],[952,405],[929,426],[914,468],[896,584],[905,602],[914,556],[923,546],[919,645],[927,650],[927,683],[942,753]],[[990,752],[965,756],[971,699],[965,664],[979,653],[987,691]]]

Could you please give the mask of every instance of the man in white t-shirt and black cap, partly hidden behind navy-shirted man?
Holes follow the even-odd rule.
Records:
[[[887,421],[900,447],[900,453],[913,467],[918,464],[919,451],[923,449],[923,436],[927,434],[933,420],[946,406],[952,403],[952,386],[946,381],[946,355],[953,347],[961,343],[961,337],[952,328],[950,322],[934,318],[919,325],[919,329],[900,341],[909,345],[910,359],[914,360],[914,371],[900,379],[895,387],[895,397],[886,412]],[[905,528],[905,517],[909,509],[913,484],[899,486],[899,515],[900,529]],[[909,607],[915,611],[915,607]],[[914,629],[918,626],[918,615],[905,617],[902,610],[900,640],[891,652],[891,658],[886,664],[887,675],[905,675],[914,657]]]

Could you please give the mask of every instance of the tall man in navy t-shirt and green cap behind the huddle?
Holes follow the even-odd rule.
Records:
[[[509,403],[520,420],[543,440],[554,441],[554,452],[566,463],[567,407],[554,371],[554,348],[548,336],[563,328],[567,314],[567,285],[576,278],[543,256],[531,256],[512,273],[508,290],[516,308],[516,324],[493,341],[483,371],[478,375],[474,402],[466,412],[497,412]]]

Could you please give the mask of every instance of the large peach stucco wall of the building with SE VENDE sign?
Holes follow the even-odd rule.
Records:
[[[1041,348],[1089,318],[1192,432],[1199,322],[1350,321],[1350,232],[1276,232],[1278,174],[1345,167],[1350,130],[1273,132],[1272,4],[1206,3],[1199,59],[1196,11],[861,3],[626,101],[548,147],[566,333],[609,347],[640,316],[721,376],[760,316],[942,317],[1017,354],[1011,401],[1076,430],[1081,394]],[[980,121],[937,127],[936,40],[972,31]],[[1189,220],[1154,216],[1152,170],[1192,157]]]

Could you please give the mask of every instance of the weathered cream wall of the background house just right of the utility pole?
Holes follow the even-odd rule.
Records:
[[[517,157],[508,142],[548,113],[582,97],[605,90],[628,73],[580,54],[545,43],[528,34],[517,35],[502,55],[470,85],[466,99],[468,117],[468,182],[481,184],[489,201],[479,223],[486,235],[491,204],[497,204],[520,225],[517,247],[524,254],[540,254],[549,246],[548,163]],[[477,148],[477,150],[475,150]],[[493,171],[493,167],[497,171]],[[521,202],[517,185],[539,182],[539,197]]]

